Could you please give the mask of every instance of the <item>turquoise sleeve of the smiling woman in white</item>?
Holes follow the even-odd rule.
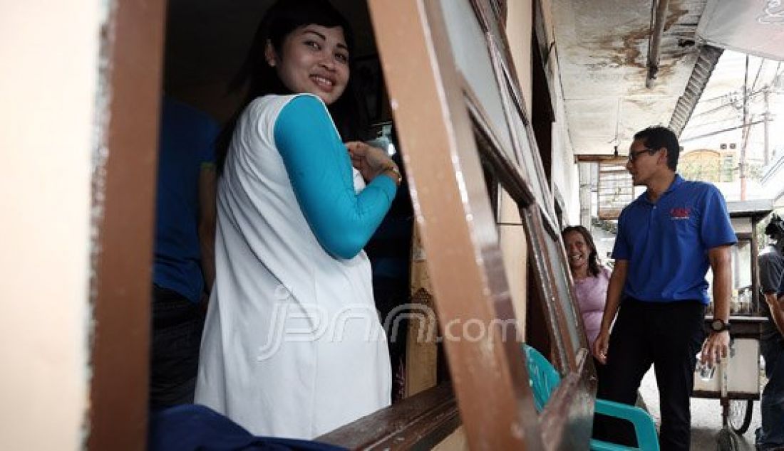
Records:
[[[359,254],[387,215],[395,182],[379,176],[354,192],[348,151],[316,96],[292,99],[275,121],[274,138],[318,242],[339,258]]]

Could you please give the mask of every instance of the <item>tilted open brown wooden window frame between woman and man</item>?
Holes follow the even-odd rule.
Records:
[[[499,336],[481,345],[445,341],[445,351],[463,424],[472,448],[539,449],[543,443],[562,446],[585,443],[590,437],[593,414],[589,354],[585,338],[579,348],[565,340],[566,311],[575,316],[572,294],[558,293],[553,265],[565,265],[554,206],[549,189],[543,204],[535,202],[527,168],[521,159],[510,161],[510,153],[499,146],[499,133],[463,76],[456,70],[440,2],[370,0],[383,71],[393,104],[395,123],[401,137],[409,186],[426,247],[427,263],[434,287],[440,323],[454,319],[514,318],[492,207],[481,173],[479,155],[494,164],[499,180],[521,208],[535,273],[543,283],[536,285],[546,301],[550,330],[558,341],[556,365],[564,375],[541,416],[532,409],[528,375],[517,341]],[[526,128],[531,149],[537,149],[522,96],[514,78],[511,58],[503,45],[505,34],[488,21],[496,17],[488,2],[471,1],[477,20],[485,31],[493,70],[503,94],[507,124],[510,110],[517,108]],[[500,43],[500,45],[499,45]],[[412,78],[415,74],[416,81]],[[489,143],[477,149],[474,129]],[[512,146],[522,151],[515,130]],[[543,180],[539,156],[534,154],[536,181]],[[544,240],[560,251],[549,254]],[[545,244],[545,245],[543,245]],[[550,247],[552,249],[553,247]],[[454,277],[459,274],[459,278]],[[568,286],[568,285],[567,285]],[[564,299],[564,295],[568,299]],[[579,316],[577,317],[579,318]],[[577,330],[582,327],[577,321]]]

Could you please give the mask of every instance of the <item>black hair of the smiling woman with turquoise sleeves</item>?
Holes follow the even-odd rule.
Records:
[[[321,27],[341,27],[349,51],[349,70],[353,71],[354,34],[348,21],[327,0],[278,0],[267,12],[256,29],[256,35],[239,73],[229,85],[229,91],[249,85],[247,96],[223,126],[216,142],[218,173],[223,173],[223,164],[229,151],[234,127],[245,107],[256,97],[267,94],[291,94],[292,92],[278,78],[274,67],[264,57],[267,41],[272,43],[278,56],[282,56],[283,41],[292,31],[307,25]],[[329,114],[335,121],[341,137],[345,141],[365,139],[368,129],[367,114],[360,107],[358,92],[349,77],[343,95],[328,106]]]

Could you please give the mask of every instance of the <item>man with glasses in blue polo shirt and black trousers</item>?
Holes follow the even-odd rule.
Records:
[[[716,321],[702,355],[709,365],[727,356],[730,248],[736,242],[724,197],[713,185],[677,175],[679,153],[677,136],[669,128],[651,127],[634,135],[626,169],[634,185],[648,189],[619,217],[615,267],[593,345],[594,355],[607,366],[599,381],[600,398],[634,404],[642,377],[654,366],[662,449],[689,449],[689,398],[695,355],[705,338],[709,267]],[[623,428],[604,427],[612,436],[626,435]]]

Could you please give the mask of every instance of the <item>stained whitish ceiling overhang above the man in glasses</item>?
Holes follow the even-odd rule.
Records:
[[[635,132],[670,123],[695,66],[706,0],[670,0],[659,74],[648,74],[651,0],[555,0],[553,17],[568,129],[575,154],[626,154]]]

